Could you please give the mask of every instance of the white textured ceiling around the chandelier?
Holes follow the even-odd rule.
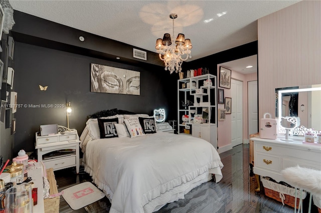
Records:
[[[257,19],[297,0],[10,0],[14,9],[155,51],[173,34],[192,40],[195,60],[257,40]],[[225,13],[218,16],[219,13]],[[211,20],[204,22],[204,20]],[[86,39],[86,38],[85,38]]]

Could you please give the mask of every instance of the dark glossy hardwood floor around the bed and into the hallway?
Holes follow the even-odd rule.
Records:
[[[250,175],[248,144],[235,146],[220,156],[224,168],[223,179],[219,183],[214,180],[203,183],[186,194],[185,199],[169,203],[157,213],[294,211],[292,207],[265,196],[263,190],[259,194],[254,192],[256,181]],[[92,181],[89,174],[77,175],[72,168],[55,171],[55,176],[59,191],[84,181]],[[72,210],[61,196],[59,212],[108,212],[109,208],[110,202],[104,197],[84,208]]]

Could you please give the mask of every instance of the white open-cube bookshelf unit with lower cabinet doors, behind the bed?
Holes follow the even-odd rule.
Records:
[[[211,81],[212,85],[205,81]],[[178,133],[203,138],[217,148],[217,86],[216,76],[203,74],[178,80]],[[183,106],[188,100],[193,104]],[[185,123],[183,115],[189,115]],[[201,123],[196,123],[201,117]]]

